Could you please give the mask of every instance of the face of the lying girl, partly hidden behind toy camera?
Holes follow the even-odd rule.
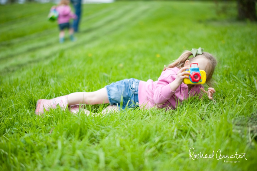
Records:
[[[206,75],[210,73],[209,61],[203,56],[196,56],[193,61],[186,60],[185,67],[189,67],[191,63],[198,63],[198,67],[206,72]]]

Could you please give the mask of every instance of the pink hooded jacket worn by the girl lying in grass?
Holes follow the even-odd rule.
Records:
[[[189,94],[194,96],[200,94],[200,88],[202,85],[194,85],[190,93],[188,93],[188,87],[182,82],[182,84],[173,92],[170,88],[170,83],[177,77],[177,67],[168,68],[161,73],[161,76],[157,81],[148,79],[148,81],[140,81],[138,88],[138,101],[140,108],[145,106],[146,109],[152,107],[175,109],[177,108],[178,101],[182,102]]]

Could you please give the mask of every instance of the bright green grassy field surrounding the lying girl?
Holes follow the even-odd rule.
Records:
[[[257,24],[236,21],[236,4],[226,12],[213,2],[85,4],[77,41],[66,35],[64,44],[46,19],[52,5],[0,6],[0,170],[256,169]],[[203,97],[172,111],[34,114],[39,98],[157,80],[164,64],[198,47],[219,62],[216,104]],[[191,147],[215,155],[193,160]],[[217,160],[219,149],[247,160]]]

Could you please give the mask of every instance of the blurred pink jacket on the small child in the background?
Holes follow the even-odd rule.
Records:
[[[52,7],[51,9],[54,9],[54,7]],[[58,24],[68,23],[70,22],[71,18],[77,18],[77,16],[73,14],[73,12],[70,9],[70,6],[68,5],[57,6],[56,11],[59,13]]]

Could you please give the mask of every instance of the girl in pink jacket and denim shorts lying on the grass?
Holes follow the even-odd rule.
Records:
[[[191,51],[185,51],[182,55],[164,67],[161,76],[157,81],[149,79],[140,81],[138,79],[124,79],[106,85],[104,88],[95,92],[74,92],[69,95],[53,98],[50,100],[39,99],[35,113],[37,115],[44,113],[49,108],[66,108],[69,105],[70,111],[77,113],[79,110],[86,114],[90,112],[84,108],[80,109],[79,104],[104,104],[109,103],[103,111],[109,112],[119,110],[120,108],[166,108],[175,109],[178,102],[183,101],[188,96],[194,96],[202,92],[207,93],[208,97],[213,100],[215,90],[211,88],[212,75],[217,64],[216,59],[207,52],[194,54],[191,57]],[[185,72],[189,69],[191,63],[198,63],[199,69],[206,72],[206,82],[210,86],[206,92],[202,85],[184,84],[184,78],[189,79],[190,73]]]

